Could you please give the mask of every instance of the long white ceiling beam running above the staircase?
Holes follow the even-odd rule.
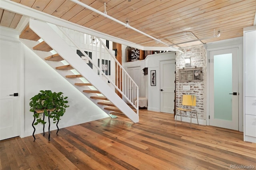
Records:
[[[58,26],[61,26],[61,27],[69,28],[71,30],[82,32],[84,34],[90,34],[92,36],[100,37],[100,38],[103,38],[105,40],[109,40],[109,41],[112,41],[112,42],[127,45],[129,47],[134,47],[134,48],[138,48],[138,49],[142,49],[142,50],[146,50],[146,49],[149,50],[149,47],[145,47],[145,46],[142,46],[142,45],[139,45],[139,44],[127,41],[127,40],[123,40],[121,38],[116,38],[114,36],[110,36],[108,34],[104,34],[102,32],[98,32],[96,30],[92,30],[90,28],[86,28],[84,26],[80,26],[80,25],[75,24],[73,22],[63,20],[61,18],[52,16],[50,14],[46,14],[44,12],[35,10],[33,8],[29,8],[27,6],[24,6],[22,4],[13,2],[11,0],[0,0],[0,4],[1,4],[0,8],[2,8],[4,10],[11,11],[11,12],[14,12],[14,13],[17,13],[17,14],[20,14],[20,15],[23,15],[23,16],[28,16],[30,18],[34,18],[34,19],[37,19],[37,20],[41,20],[41,21],[44,21],[44,22],[55,24],[55,25],[58,25]],[[155,50],[166,50],[166,47],[154,47],[154,48],[155,48]],[[170,50],[171,49],[169,48],[169,51]],[[173,49],[173,51],[176,51],[176,50]]]

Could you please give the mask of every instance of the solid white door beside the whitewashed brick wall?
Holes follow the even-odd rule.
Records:
[[[175,60],[160,61],[160,112],[174,113]]]

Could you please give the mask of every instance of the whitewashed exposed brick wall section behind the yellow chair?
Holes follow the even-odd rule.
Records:
[[[183,48],[184,53],[176,52],[176,107],[182,105],[182,95],[196,95],[198,119],[206,120],[206,49],[204,45],[194,45]],[[202,79],[199,82],[180,82],[179,69],[185,67],[185,58],[190,57],[191,67],[202,67]],[[190,90],[183,90],[182,86],[190,86]],[[190,117],[182,113],[184,117]],[[196,118],[193,114],[192,118]]]

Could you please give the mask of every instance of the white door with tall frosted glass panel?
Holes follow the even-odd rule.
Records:
[[[210,120],[238,130],[238,48],[210,51]]]

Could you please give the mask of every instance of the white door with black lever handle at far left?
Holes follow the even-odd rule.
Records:
[[[19,43],[0,40],[0,140],[20,135]]]

